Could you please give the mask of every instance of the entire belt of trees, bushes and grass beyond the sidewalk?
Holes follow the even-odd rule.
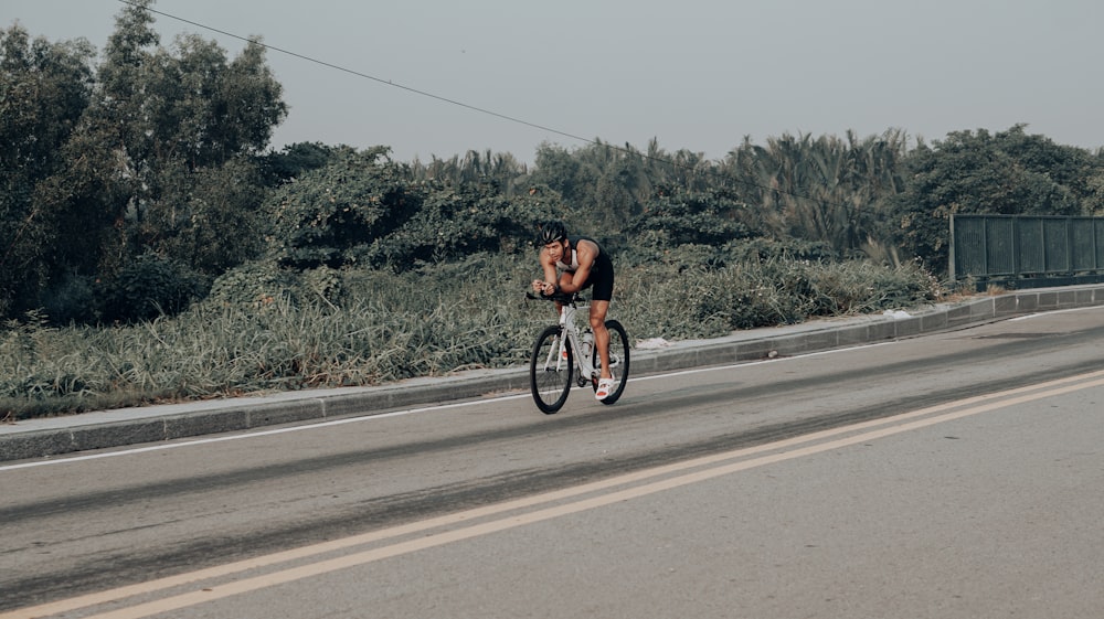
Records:
[[[954,213],[1104,212],[1104,152],[1022,125],[914,148],[784,135],[720,161],[655,140],[542,143],[532,168],[274,152],[264,47],[162,46],[152,3],[102,54],[0,31],[0,410],[518,363],[548,319],[520,295],[549,218],[615,255],[631,335],[676,340],[931,300]]]

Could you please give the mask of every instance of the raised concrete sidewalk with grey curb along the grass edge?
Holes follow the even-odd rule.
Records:
[[[741,331],[725,338],[633,351],[631,374],[795,355],[960,329],[1013,316],[1104,305],[1104,286],[1010,291],[910,310]],[[528,367],[471,371],[384,386],[121,408],[0,424],[0,461],[156,442],[278,424],[372,415],[529,389]]]

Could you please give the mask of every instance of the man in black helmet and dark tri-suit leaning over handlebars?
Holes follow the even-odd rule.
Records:
[[[606,330],[606,312],[614,294],[614,264],[593,238],[567,236],[563,222],[542,224],[537,234],[537,245],[541,250],[544,279],[533,280],[534,291],[550,297],[555,292],[570,295],[594,287],[591,298],[591,330],[594,332],[594,346],[602,361],[602,373],[594,397],[605,399],[615,385],[613,374],[609,373],[609,331]],[[556,311],[559,309],[556,303]]]

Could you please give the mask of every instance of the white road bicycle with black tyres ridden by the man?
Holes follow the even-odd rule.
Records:
[[[575,313],[580,309],[588,309],[587,302],[577,292],[556,294],[551,297],[526,295],[530,299],[560,302],[560,321],[545,328],[533,344],[533,353],[529,361],[529,385],[533,393],[533,402],[545,415],[558,413],[567,402],[574,374],[580,387],[586,386],[598,391],[598,377],[602,375],[602,361],[594,345],[594,334],[587,325],[580,331],[575,325]],[[606,321],[609,331],[609,372],[616,381],[613,393],[603,399],[602,404],[617,402],[625,392],[628,382],[629,345],[625,328],[616,320]]]

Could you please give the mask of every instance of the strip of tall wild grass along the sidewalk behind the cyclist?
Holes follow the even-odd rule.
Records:
[[[626,260],[628,263],[628,260]],[[340,274],[317,299],[216,300],[136,325],[0,331],[0,418],[310,387],[382,384],[527,362],[551,306],[524,300],[535,258],[478,255],[403,275]],[[938,294],[915,267],[787,259],[645,263],[617,271],[611,309],[634,339],[914,306]]]

